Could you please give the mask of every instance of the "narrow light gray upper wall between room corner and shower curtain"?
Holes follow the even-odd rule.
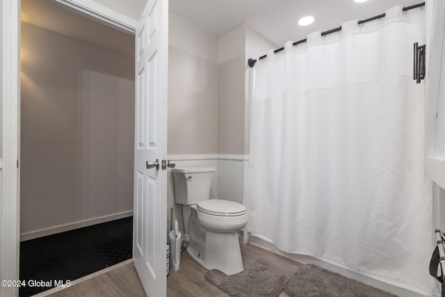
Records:
[[[252,70],[247,61],[273,48],[276,45],[245,24],[219,38],[219,154],[249,154]]]

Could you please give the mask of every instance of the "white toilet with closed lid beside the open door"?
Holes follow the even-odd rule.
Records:
[[[173,168],[175,202],[188,205],[191,214],[184,218],[190,235],[188,255],[207,269],[227,275],[243,271],[237,231],[248,223],[243,204],[209,200],[215,168]]]

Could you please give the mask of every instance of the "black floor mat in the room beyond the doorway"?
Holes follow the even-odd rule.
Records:
[[[25,286],[19,288],[19,296],[32,296],[60,281],[131,259],[132,242],[133,217],[22,241],[19,279]]]

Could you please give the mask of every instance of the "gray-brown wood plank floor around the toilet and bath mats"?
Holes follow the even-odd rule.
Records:
[[[243,257],[273,267],[291,277],[302,264],[277,255],[274,252],[259,248],[252,244],[241,246]],[[187,252],[181,253],[179,271],[170,271],[167,278],[167,296],[229,296],[205,280],[207,269],[197,264]],[[118,267],[112,271],[97,275],[72,287],[60,290],[51,297],[96,297],[96,296],[145,296],[142,284],[136,273],[133,263]],[[280,297],[288,296],[284,292]]]

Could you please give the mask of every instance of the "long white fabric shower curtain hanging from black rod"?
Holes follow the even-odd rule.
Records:
[[[396,6],[257,63],[244,204],[247,229],[281,250],[433,295],[424,83],[412,78],[424,12]]]

